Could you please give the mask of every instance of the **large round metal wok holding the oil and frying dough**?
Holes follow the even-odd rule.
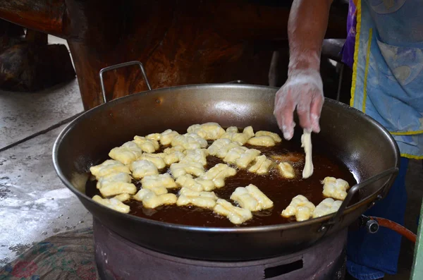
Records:
[[[398,171],[398,147],[388,131],[360,111],[331,99],[325,101],[321,133],[313,135],[313,149],[341,159],[360,182],[350,189],[336,214],[274,226],[195,227],[121,214],[85,195],[90,166],[99,164],[109,150],[134,135],[168,128],[185,130],[207,121],[278,132],[272,114],[276,90],[256,85],[189,85],[115,99],[85,112],[62,131],[54,144],[54,168],[95,219],[152,250],[200,260],[235,261],[305,249],[352,224],[386,194]],[[300,141],[301,133],[297,130],[293,141]]]

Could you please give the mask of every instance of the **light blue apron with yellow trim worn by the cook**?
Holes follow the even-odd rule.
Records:
[[[423,5],[357,0],[350,106],[381,123],[401,157],[423,159]],[[345,51],[345,50],[344,50]]]

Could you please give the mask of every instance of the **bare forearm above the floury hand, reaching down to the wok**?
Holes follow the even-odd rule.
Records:
[[[332,0],[295,0],[288,20],[290,61],[293,71],[319,71],[321,44],[328,26]]]

